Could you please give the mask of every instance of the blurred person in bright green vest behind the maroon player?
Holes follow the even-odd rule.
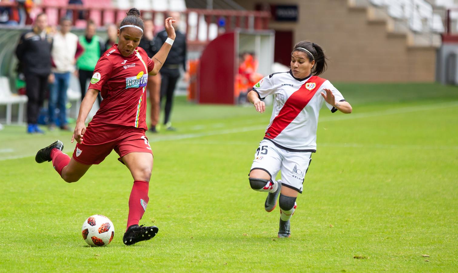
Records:
[[[81,87],[81,99],[84,98],[87,90],[87,81],[92,78],[95,65],[98,59],[105,52],[105,45],[102,39],[95,35],[96,25],[92,20],[87,21],[86,33],[79,37],[79,42],[84,48],[83,54],[76,61],[78,67],[78,77]],[[98,105],[102,101],[102,96],[98,93]]]

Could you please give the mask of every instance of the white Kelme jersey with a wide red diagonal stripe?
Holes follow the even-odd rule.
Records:
[[[320,109],[326,104],[337,109],[321,95],[331,89],[336,102],[345,101],[331,82],[318,76],[298,79],[292,72],[273,73],[256,83],[253,90],[259,98],[274,95],[273,111],[264,139],[293,152],[316,152],[316,127]]]

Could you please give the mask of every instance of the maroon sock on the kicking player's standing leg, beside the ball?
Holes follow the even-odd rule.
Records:
[[[131,197],[129,197],[129,216],[127,217],[127,228],[133,224],[138,224],[138,221],[145,213],[148,204],[148,188],[147,181],[135,180],[132,186]]]

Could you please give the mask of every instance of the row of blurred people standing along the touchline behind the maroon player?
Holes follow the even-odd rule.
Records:
[[[186,39],[180,32],[178,22],[180,13],[169,14],[177,20],[174,24],[176,38],[174,47],[161,69],[161,74],[148,78],[147,89],[150,97],[151,124],[150,131],[158,132],[161,99],[165,100],[164,126],[166,130],[175,130],[171,126],[170,114],[173,105],[174,90],[180,78],[180,68],[186,73]],[[164,44],[167,34],[161,31],[154,36],[151,19],[144,20],[144,36],[139,44],[151,58]],[[68,124],[67,91],[72,74],[79,79],[81,99],[84,98],[88,82],[98,59],[118,41],[118,27],[107,25],[107,39],[96,35],[96,25],[87,21],[85,33],[77,36],[71,33],[72,20],[64,17],[59,26],[49,26],[45,13],[36,16],[33,28],[21,35],[16,47],[18,59],[18,77],[25,82],[27,95],[27,132],[44,133],[38,124],[46,124],[49,130],[59,127],[71,130]],[[48,98],[47,109],[43,109]],[[98,104],[102,98],[99,94]]]

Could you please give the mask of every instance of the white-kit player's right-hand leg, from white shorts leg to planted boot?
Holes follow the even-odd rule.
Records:
[[[291,235],[290,219],[296,210],[296,198],[302,193],[305,174],[311,162],[310,152],[286,152],[282,162],[282,189],[278,205],[280,206],[280,224],[278,238]]]

